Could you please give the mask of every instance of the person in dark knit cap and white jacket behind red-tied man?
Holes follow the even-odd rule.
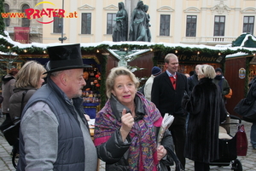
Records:
[[[162,73],[162,70],[158,66],[154,66],[151,70],[151,76],[148,78],[147,82],[145,83],[144,87],[144,94],[147,100],[151,101],[151,89],[152,84],[154,82],[154,77],[160,75]]]

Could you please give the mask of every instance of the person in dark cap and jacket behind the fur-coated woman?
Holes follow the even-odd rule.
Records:
[[[224,78],[222,69],[216,68],[215,72],[216,72],[216,77],[213,79],[213,83],[216,83],[219,86],[220,91],[222,93],[223,100],[224,102],[226,102],[224,95],[230,93],[230,85],[228,81]]]

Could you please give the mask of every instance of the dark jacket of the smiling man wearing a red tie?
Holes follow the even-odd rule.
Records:
[[[172,115],[183,115],[184,111],[181,105],[183,95],[188,93],[188,79],[182,73],[176,73],[176,90],[168,74],[165,72],[154,77],[154,83],[151,90],[151,101],[160,110],[162,116],[165,113]]]

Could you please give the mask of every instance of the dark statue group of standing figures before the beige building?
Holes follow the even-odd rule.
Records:
[[[131,14],[131,24],[128,39],[128,14],[125,10],[123,2],[119,3],[119,11],[116,14],[116,24],[113,31],[113,42],[120,41],[151,41],[151,33],[149,30],[150,17],[148,5],[144,5],[143,1],[137,3],[137,8]]]

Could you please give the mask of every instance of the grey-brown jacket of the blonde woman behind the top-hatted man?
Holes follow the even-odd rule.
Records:
[[[27,92],[26,92],[27,90]],[[26,102],[31,98],[32,94],[36,92],[37,88],[14,88],[14,94],[9,99],[9,115],[14,121],[15,117],[21,117],[21,100],[22,94],[26,92],[23,100],[23,108],[26,105]]]

